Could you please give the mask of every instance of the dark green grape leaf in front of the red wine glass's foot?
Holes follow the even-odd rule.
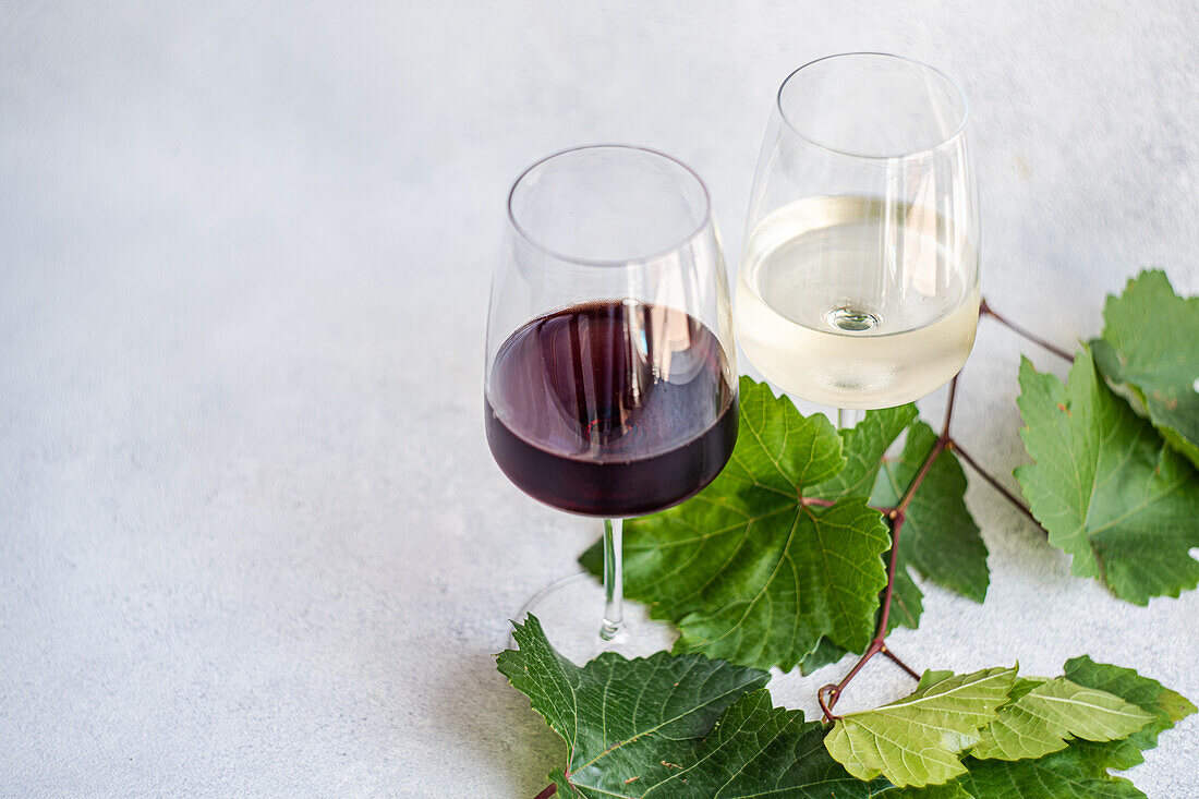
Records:
[[[703,655],[605,653],[579,667],[532,615],[499,669],[567,745],[550,774],[561,797],[868,799],[882,781],[850,776],[819,722],[775,708],[765,672]]]

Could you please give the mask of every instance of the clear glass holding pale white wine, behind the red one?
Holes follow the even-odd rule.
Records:
[[[978,324],[978,202],[966,101],[896,55],[793,72],[763,144],[736,329],[776,386],[856,411],[950,382]]]

